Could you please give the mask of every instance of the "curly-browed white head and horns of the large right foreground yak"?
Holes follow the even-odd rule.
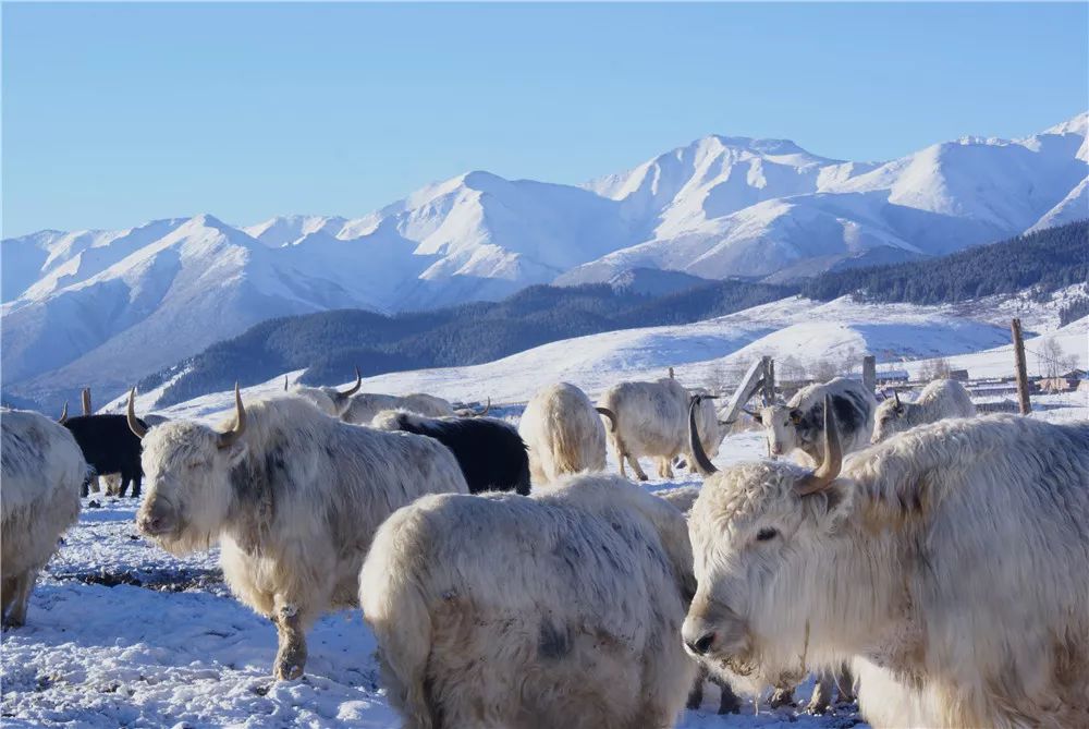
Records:
[[[839,430],[825,408],[827,455],[816,470],[764,460],[718,471],[700,447],[695,408],[689,441],[706,479],[688,519],[698,587],[682,639],[690,654],[755,691],[804,670],[805,575],[847,500],[836,482]]]

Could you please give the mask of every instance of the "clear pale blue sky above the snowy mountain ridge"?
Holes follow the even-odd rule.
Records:
[[[11,4],[3,234],[364,215],[710,133],[888,159],[1089,106],[1089,5]]]

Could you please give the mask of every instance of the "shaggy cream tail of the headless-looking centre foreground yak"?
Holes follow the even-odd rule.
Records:
[[[406,548],[405,510],[395,512],[375,535],[359,572],[359,605],[378,641],[382,683],[401,709],[406,729],[441,726],[431,702],[427,661],[431,653],[431,616]]]

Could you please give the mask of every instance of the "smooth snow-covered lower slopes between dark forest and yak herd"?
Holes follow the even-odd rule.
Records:
[[[1020,317],[1029,354],[1029,374],[1045,372],[1033,351],[1052,337],[1066,355],[1089,366],[1089,324],[1059,327],[1059,307],[1076,288],[1056,292],[1041,304],[1025,295],[993,296],[967,305],[918,306],[867,304],[845,296],[827,304],[794,296],[696,324],[626,329],[543,344],[480,365],[391,373],[364,379],[369,392],[430,392],[452,401],[517,405],[540,387],[568,381],[597,397],[625,379],[657,379],[674,367],[686,386],[720,390],[734,384],[756,359],[771,355],[781,378],[792,366],[827,362],[861,366],[864,354],[877,356],[878,369],[915,370],[934,359],[967,367],[972,377],[1013,370],[1010,319]],[[296,379],[302,372],[285,373]],[[347,373],[345,373],[345,380]],[[139,412],[155,410],[162,387],[137,396]],[[246,388],[247,397],[283,389],[283,375]],[[175,417],[208,417],[231,408],[222,391],[161,410]],[[124,398],[105,403],[121,412]]]

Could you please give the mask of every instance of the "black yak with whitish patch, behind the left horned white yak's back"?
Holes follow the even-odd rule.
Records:
[[[379,430],[435,438],[453,452],[469,491],[529,494],[529,457],[518,432],[495,417],[424,417],[397,410],[375,416]]]

